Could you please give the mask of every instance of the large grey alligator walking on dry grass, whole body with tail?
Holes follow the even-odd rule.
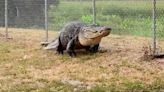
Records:
[[[71,22],[64,26],[57,39],[42,45],[46,46],[46,50],[55,49],[59,54],[63,54],[66,50],[71,57],[75,57],[76,49],[97,52],[101,39],[108,36],[110,32],[110,27]]]

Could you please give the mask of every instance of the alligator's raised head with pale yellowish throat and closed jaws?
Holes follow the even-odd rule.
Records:
[[[109,27],[87,26],[82,27],[79,33],[79,42],[83,46],[99,44],[102,37],[108,36],[111,32]]]

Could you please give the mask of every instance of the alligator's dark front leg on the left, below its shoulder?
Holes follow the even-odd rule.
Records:
[[[67,53],[71,57],[76,56],[76,53],[75,53],[75,39],[72,39],[71,41],[68,42],[66,50],[67,50]]]

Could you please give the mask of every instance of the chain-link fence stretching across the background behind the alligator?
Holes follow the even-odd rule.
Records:
[[[5,12],[5,1],[7,0],[0,1],[1,27],[6,25],[9,28],[58,31],[70,21],[82,21],[86,24],[111,26],[113,34],[144,37],[153,37],[152,27],[155,22],[152,12],[153,1],[156,1],[157,8],[154,14],[157,18],[155,24],[157,34],[155,36],[157,36],[157,45],[160,48],[164,46],[160,43],[164,37],[163,0],[96,0],[95,9],[95,0],[8,0],[7,12]],[[45,41],[48,41],[47,31],[45,31]],[[0,33],[3,34],[2,31]],[[156,43],[154,44],[156,46]]]

